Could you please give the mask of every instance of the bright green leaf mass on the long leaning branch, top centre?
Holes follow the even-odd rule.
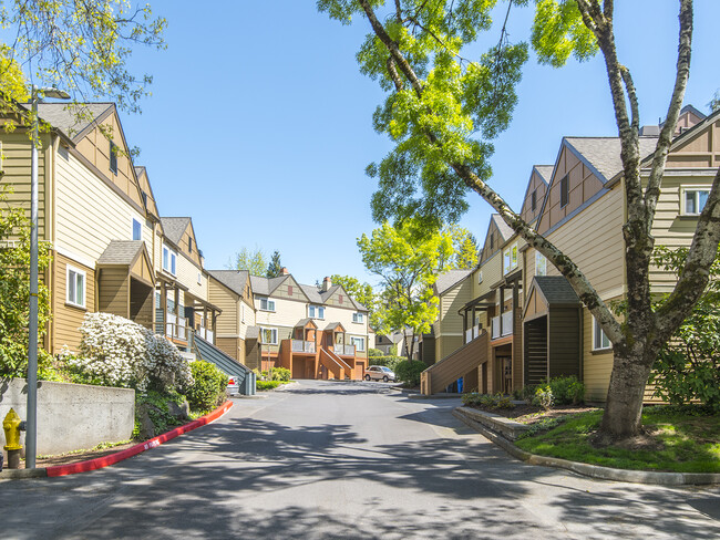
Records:
[[[467,167],[482,181],[491,178],[488,141],[510,123],[527,45],[508,43],[503,35],[480,59],[462,56],[490,30],[495,0],[369,3],[419,79],[414,84],[390,61],[388,45],[374,32],[366,38],[357,54],[360,71],[388,92],[373,125],[394,145],[367,169],[378,180],[373,218],[402,222],[414,216],[432,228],[455,222],[467,208],[469,191],[457,170]],[[364,14],[350,0],[320,0],[318,8],[343,24],[356,13]]]

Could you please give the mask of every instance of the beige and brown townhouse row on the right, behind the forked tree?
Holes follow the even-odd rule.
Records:
[[[679,126],[654,224],[656,243],[670,248],[690,245],[720,165],[720,113],[704,117],[687,106]],[[657,133],[644,128],[640,137],[645,178]],[[533,167],[521,215],[575,261],[604,301],[624,298],[627,205],[617,137],[564,137],[554,165]],[[673,284],[672,274],[652,269],[654,292]],[[609,340],[567,280],[497,216],[491,218],[479,267],[438,292],[441,305],[449,307],[436,323],[438,350],[454,338],[443,330],[459,324],[464,343],[423,374],[423,393],[440,392],[459,377],[469,390],[507,393],[576,375],[587,399],[605,399],[613,367]],[[457,311],[450,309],[469,295]]]

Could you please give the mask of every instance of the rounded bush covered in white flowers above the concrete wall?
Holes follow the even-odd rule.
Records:
[[[148,386],[186,388],[188,362],[165,336],[111,313],[88,313],[80,326],[80,356],[69,362],[109,386],[145,392]]]

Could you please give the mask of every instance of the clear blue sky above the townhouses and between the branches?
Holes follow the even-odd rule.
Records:
[[[371,125],[382,93],[354,60],[369,28],[361,19],[342,27],[315,3],[153,1],[168,20],[167,50],[134,53],[133,70],[154,76],[153,96],[142,115],[121,115],[123,127],[142,150],[136,164],[148,169],[161,214],[193,217],[206,268],[257,246],[268,256],[278,249],[300,282],[341,273],[376,284],[356,245],[376,227],[364,167],[390,148]],[[635,77],[641,123],[654,124],[675,76],[678,1],[616,3],[620,58]],[[531,20],[529,10],[513,9],[511,40],[526,39]],[[702,112],[720,87],[718,20],[719,1],[696,1],[686,104]],[[474,53],[497,37],[495,28]],[[492,158],[493,186],[515,208],[532,166],[553,164],[563,136],[617,135],[599,56],[562,70],[533,58],[518,94]],[[462,225],[482,239],[490,206],[474,194],[469,200]]]

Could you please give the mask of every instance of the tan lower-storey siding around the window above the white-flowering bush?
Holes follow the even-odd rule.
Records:
[[[95,271],[63,255],[53,252],[54,287],[51,291],[51,336],[50,352],[59,353],[63,345],[71,351],[80,347],[80,325],[85,313],[95,311]],[[68,266],[85,272],[85,309],[66,303],[68,299]]]

